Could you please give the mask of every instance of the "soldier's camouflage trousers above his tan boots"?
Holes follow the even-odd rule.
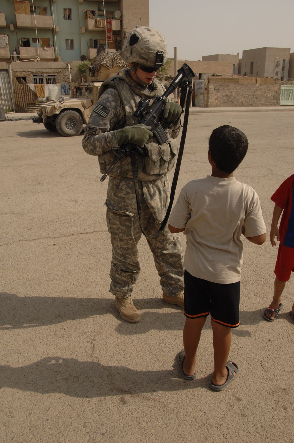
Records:
[[[168,179],[166,186],[169,186]],[[147,205],[142,186],[140,186],[140,203],[143,229],[147,234],[156,232],[160,224],[155,221]],[[137,244],[142,235],[134,180],[109,177],[105,204],[107,227],[112,243],[110,292],[118,297],[128,297],[140,272]],[[184,280],[182,245],[178,235],[170,233],[166,226],[157,237],[153,239],[146,237],[146,240],[160,276],[162,291],[170,296],[180,294],[184,289]]]

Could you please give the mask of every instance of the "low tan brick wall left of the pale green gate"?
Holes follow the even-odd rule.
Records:
[[[255,79],[255,82],[254,82]],[[244,78],[240,78],[244,81]],[[279,106],[281,83],[260,82],[272,79],[250,78],[250,83],[225,82],[221,78],[209,78],[207,91],[209,108]],[[207,103],[207,101],[206,101]]]

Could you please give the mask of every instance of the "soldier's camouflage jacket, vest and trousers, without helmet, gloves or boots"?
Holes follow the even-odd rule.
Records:
[[[113,131],[139,123],[133,113],[141,97],[149,98],[152,104],[154,98],[164,92],[156,78],[145,88],[131,78],[128,69],[123,70],[122,78],[119,83],[124,104],[121,103],[112,79],[104,82],[101,88],[104,92],[89,118],[82,141],[85,152],[98,155],[102,173],[116,157],[112,150],[120,149]],[[166,143],[159,146],[157,139],[153,137],[146,144],[147,157],[138,155],[141,222],[147,234],[159,229],[169,203],[170,182],[166,172],[175,163],[177,143],[174,138],[179,132],[178,120],[175,126],[170,124],[166,129]],[[139,276],[137,244],[142,235],[130,158],[123,157],[113,168],[111,175],[105,202],[112,243],[110,292],[126,298],[131,294]],[[160,276],[162,291],[170,296],[180,294],[184,289],[184,280],[182,246],[178,235],[170,233],[166,226],[154,239],[147,238],[147,242]]]

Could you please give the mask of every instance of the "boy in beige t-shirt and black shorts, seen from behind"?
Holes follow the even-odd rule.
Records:
[[[236,181],[233,171],[244,159],[248,140],[243,132],[224,125],[209,138],[212,174],[192,180],[181,190],[169,220],[172,233],[186,235],[184,349],[178,360],[182,377],[196,377],[195,363],[206,317],[213,329],[214,374],[210,388],[224,389],[238,375],[228,360],[231,328],[239,326],[243,234],[262,245],[266,240],[258,195]]]

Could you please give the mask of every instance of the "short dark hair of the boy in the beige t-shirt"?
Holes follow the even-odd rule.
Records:
[[[209,137],[209,150],[217,167],[224,172],[235,171],[244,159],[248,140],[244,132],[228,124],[213,129]]]

